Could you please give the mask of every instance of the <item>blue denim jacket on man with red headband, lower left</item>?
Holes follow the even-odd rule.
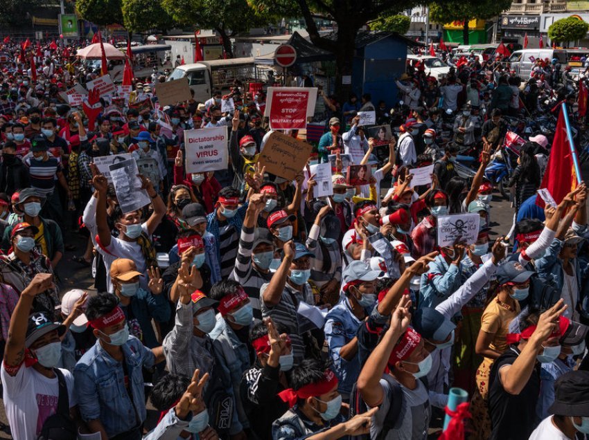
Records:
[[[155,356],[134,336],[122,349],[130,392],[125,388],[125,367],[103,349],[100,340],[73,369],[82,419],[99,419],[108,437],[138,428],[147,417],[141,368],[153,367]]]

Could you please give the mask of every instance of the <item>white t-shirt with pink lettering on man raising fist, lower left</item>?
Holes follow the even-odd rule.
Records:
[[[67,369],[63,373],[69,396],[69,407],[76,406],[73,394],[73,376]],[[33,367],[21,365],[16,376],[10,376],[4,369],[0,370],[3,384],[3,400],[6,417],[10,423],[12,438],[35,440],[43,423],[58,410],[59,383],[57,376],[53,379],[43,376]]]

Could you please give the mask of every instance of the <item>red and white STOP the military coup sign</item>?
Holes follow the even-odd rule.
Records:
[[[265,115],[273,130],[305,129],[315,112],[316,87],[269,87]]]

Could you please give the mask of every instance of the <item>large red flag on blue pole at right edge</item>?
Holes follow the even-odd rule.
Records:
[[[562,105],[566,104],[563,103]],[[552,194],[554,201],[561,203],[564,197],[571,190],[574,190],[575,187],[577,187],[577,177],[574,174],[572,151],[568,143],[565,116],[561,111],[540,188],[546,188]],[[544,202],[540,196],[536,198],[536,205],[544,206]]]

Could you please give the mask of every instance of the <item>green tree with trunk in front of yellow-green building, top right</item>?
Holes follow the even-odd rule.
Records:
[[[441,0],[430,4],[430,19],[439,24],[463,21],[464,44],[468,44],[468,21],[489,20],[509,9],[511,0]]]

